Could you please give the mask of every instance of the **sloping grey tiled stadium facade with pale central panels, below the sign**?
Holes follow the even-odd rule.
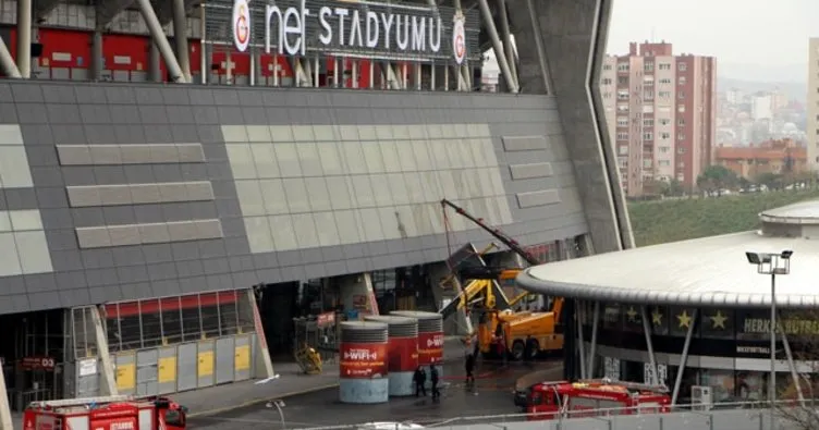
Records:
[[[524,244],[588,231],[561,123],[553,120],[558,115],[552,97],[50,82],[0,83],[0,94],[10,87],[36,87],[41,94],[72,88],[74,97],[83,95],[76,112],[99,106],[111,111],[108,124],[66,113],[44,116],[47,124],[19,126],[34,187],[0,188],[0,210],[39,210],[53,270],[0,278],[0,302],[21,304],[17,311],[83,299],[97,304],[166,295],[171,285],[176,293],[194,293],[250,286],[236,282],[295,281],[442,260],[448,257],[442,214],[440,206],[428,204],[442,197],[477,217],[497,219]],[[117,97],[87,99],[88,88]],[[132,107],[175,109],[180,105],[163,98],[171,89],[183,95],[173,100],[195,102],[185,107],[191,118],[173,114],[180,116],[175,123],[160,124],[125,113]],[[260,97],[261,105],[244,105],[248,95]],[[127,105],[130,100],[136,105]],[[64,105],[45,106],[51,110]],[[0,99],[0,110],[8,108],[16,111],[10,99]],[[4,116],[0,122],[15,125],[20,120]],[[225,126],[230,135],[223,134]],[[486,130],[486,136],[476,135],[477,130]],[[528,143],[510,144],[515,137]],[[362,144],[367,142],[377,144]],[[235,144],[240,149],[247,145],[252,156],[254,149],[261,155],[272,151],[276,167],[252,157],[253,164],[239,171],[232,165]],[[346,144],[351,151],[342,152]],[[484,145],[488,150],[480,151]],[[375,149],[366,149],[365,157],[365,147]],[[331,152],[338,155],[328,158]],[[286,159],[293,153],[295,158]],[[485,164],[492,160],[498,173]],[[346,170],[338,170],[335,161]],[[356,161],[364,169],[360,173],[350,171]],[[527,169],[539,168],[511,168],[518,164],[549,165],[551,175],[529,177]],[[280,175],[284,173],[290,176]],[[358,176],[366,180],[370,194],[357,192],[365,183]],[[347,177],[350,182],[339,181]],[[285,179],[304,186],[284,187]],[[262,243],[248,237],[248,208],[241,204],[240,193],[253,185],[241,185],[242,181],[265,186],[258,188],[261,207],[249,208],[265,217],[254,228],[289,225],[290,231],[270,231]],[[277,181],[285,200],[268,201],[278,195],[271,187]],[[197,185],[182,192],[168,183]],[[305,206],[301,197],[288,194],[302,188],[318,193],[317,199]],[[533,199],[542,202],[542,195],[557,191],[558,201],[530,206]],[[535,193],[529,206],[518,207],[518,195],[526,193]],[[491,241],[453,212],[449,218],[459,224],[451,239],[479,247]],[[278,224],[281,220],[288,222]],[[297,246],[292,248],[288,241]],[[270,250],[255,251],[259,249]],[[64,294],[49,293],[53,300],[29,300],[36,292],[62,290]]]

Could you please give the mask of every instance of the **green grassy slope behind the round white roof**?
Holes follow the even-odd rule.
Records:
[[[759,226],[759,212],[819,198],[819,189],[681,198],[628,204],[637,246],[744,232]]]

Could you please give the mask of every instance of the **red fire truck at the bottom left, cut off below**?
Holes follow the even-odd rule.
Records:
[[[186,408],[167,397],[114,395],[32,402],[23,430],[181,430]]]

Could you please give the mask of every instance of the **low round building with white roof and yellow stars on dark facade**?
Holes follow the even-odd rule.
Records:
[[[577,303],[577,376],[664,383],[680,403],[701,392],[693,386],[710,388],[713,403],[768,400],[775,310],[775,386],[812,397],[819,200],[765,211],[760,222],[538,266],[517,282]]]

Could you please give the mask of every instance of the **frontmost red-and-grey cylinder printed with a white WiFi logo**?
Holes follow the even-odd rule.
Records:
[[[341,323],[339,400],[342,403],[386,403],[390,400],[387,324]]]

